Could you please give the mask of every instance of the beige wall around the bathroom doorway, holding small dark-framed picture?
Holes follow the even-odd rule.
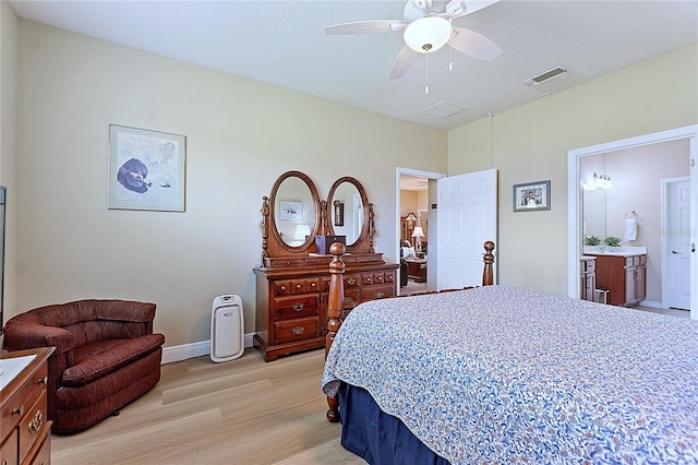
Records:
[[[697,58],[694,45],[449,132],[449,175],[498,169],[501,284],[567,295],[568,151],[697,123]],[[545,179],[552,208],[513,213],[513,184]]]

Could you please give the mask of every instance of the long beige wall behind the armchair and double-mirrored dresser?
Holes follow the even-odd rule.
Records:
[[[17,302],[158,305],[167,346],[206,341],[240,294],[254,331],[262,196],[289,169],[352,176],[395,260],[396,166],[445,171],[447,133],[20,20]],[[186,212],[107,208],[110,123],[188,138]],[[434,156],[436,154],[436,156]],[[441,154],[441,155],[440,155]],[[5,319],[8,315],[5,315]]]

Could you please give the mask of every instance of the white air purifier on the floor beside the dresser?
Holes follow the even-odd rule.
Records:
[[[214,299],[210,312],[210,359],[215,362],[239,358],[244,353],[242,299],[226,294]]]

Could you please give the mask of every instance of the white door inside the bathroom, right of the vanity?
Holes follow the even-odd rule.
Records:
[[[690,181],[669,186],[669,306],[690,309]]]

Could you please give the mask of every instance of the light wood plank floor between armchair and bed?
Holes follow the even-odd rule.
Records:
[[[265,363],[198,357],[161,367],[159,384],[96,427],[51,438],[51,463],[364,464],[325,419],[324,350]]]

